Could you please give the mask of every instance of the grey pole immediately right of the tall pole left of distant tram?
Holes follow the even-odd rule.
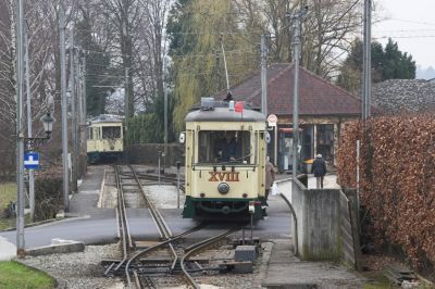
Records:
[[[71,96],[71,121],[72,121],[72,191],[77,192],[77,112],[76,112],[76,95],[75,95],[75,48],[74,48],[74,25],[71,29],[70,38],[70,96]]]

